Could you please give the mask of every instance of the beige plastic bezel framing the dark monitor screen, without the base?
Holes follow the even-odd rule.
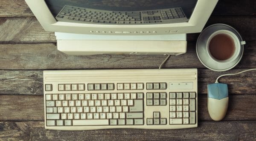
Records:
[[[44,0],[25,1],[46,31],[92,35],[168,35],[201,32],[218,3],[218,0],[198,0],[189,22],[186,23],[106,25],[57,21]]]

